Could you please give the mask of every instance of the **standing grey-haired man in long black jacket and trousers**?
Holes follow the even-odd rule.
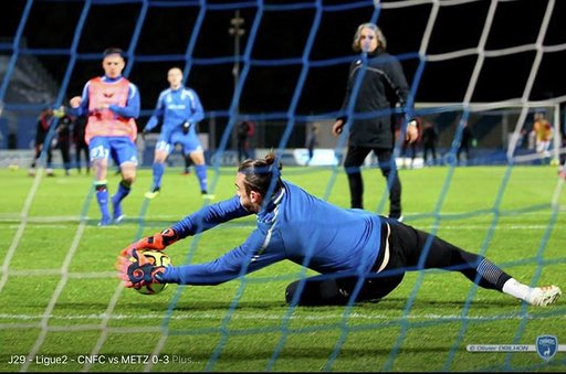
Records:
[[[335,136],[339,136],[349,122],[344,168],[348,175],[350,205],[364,207],[360,167],[369,152],[374,151],[389,186],[389,217],[402,221],[401,182],[395,159],[391,158],[391,117],[397,104],[403,108],[407,106],[409,85],[399,61],[386,53],[386,39],[376,24],[360,24],[352,46],[360,56],[350,65],[346,97],[340,110],[343,116],[332,129]],[[348,116],[354,118],[348,120]],[[410,120],[407,125],[407,139],[413,142],[418,137],[417,122]]]

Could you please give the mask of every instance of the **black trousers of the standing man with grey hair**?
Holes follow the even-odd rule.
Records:
[[[361,179],[360,167],[371,151],[377,156],[381,174],[388,182],[389,216],[398,218],[401,215],[401,181],[397,173],[395,160],[391,160],[390,149],[356,146],[348,148],[346,159],[344,160],[344,169],[348,175],[350,206],[364,209],[364,181]]]

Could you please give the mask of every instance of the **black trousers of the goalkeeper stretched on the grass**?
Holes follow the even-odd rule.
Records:
[[[287,286],[285,300],[298,306],[342,306],[348,302],[379,301],[402,281],[406,271],[446,269],[459,271],[486,289],[502,290],[511,276],[480,255],[468,253],[438,236],[398,222],[389,222],[389,260],[384,259],[387,237],[381,232],[380,255],[365,277],[314,276]],[[376,249],[377,250],[377,249]]]

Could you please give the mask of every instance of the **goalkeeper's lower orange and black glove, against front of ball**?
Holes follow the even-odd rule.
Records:
[[[136,249],[132,250],[132,257],[118,256],[116,269],[118,270],[118,278],[128,288],[140,288],[149,284],[164,282],[165,266],[154,266]]]

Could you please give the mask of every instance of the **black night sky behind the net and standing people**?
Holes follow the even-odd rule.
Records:
[[[324,6],[324,11],[317,12],[317,3]],[[80,0],[35,0],[29,9],[19,52],[34,55],[60,85],[65,85],[67,77],[64,92],[64,104],[67,104],[70,97],[81,94],[87,79],[103,73],[102,51],[108,46],[122,47],[129,54],[125,75],[140,89],[143,116],[150,114],[159,92],[168,86],[168,68],[189,67],[187,85],[199,94],[207,117],[217,118],[218,143],[222,121],[226,125],[233,114],[229,110],[234,94],[234,38],[228,30],[237,9],[245,21],[240,42],[241,76],[245,79],[239,110],[252,116],[271,114],[281,121],[287,119],[287,114],[336,116],[348,65],[354,58],[353,35],[360,23],[374,20],[387,38],[388,52],[401,60],[415,101],[463,101],[479,64],[476,49],[482,43],[492,1],[458,6],[444,2],[447,6],[438,9],[427,45],[423,35],[434,14],[433,4],[396,8],[399,1],[380,3],[382,7],[376,12],[373,1],[344,0],[269,0],[262,2],[263,7],[258,7],[255,1],[217,0],[207,1],[203,9],[199,1],[92,1],[85,9],[85,2]],[[539,36],[548,3],[548,0],[497,3],[483,41],[484,50],[507,53],[481,60],[476,86],[468,97],[470,101],[543,100],[566,95],[566,1],[554,3],[546,33]],[[0,38],[4,42],[1,54],[12,54],[11,43],[27,4],[23,0],[1,2]],[[82,17],[84,23],[80,22]],[[82,29],[77,30],[81,24]],[[308,52],[305,46],[316,24]],[[256,33],[252,40],[254,26]],[[538,40],[541,46],[558,46],[558,51],[538,55],[539,66],[531,92],[525,95],[537,58],[534,46]],[[193,50],[189,53],[191,41]],[[528,46],[522,51],[506,50],[522,45]],[[457,51],[468,53],[424,62],[419,57],[421,49],[437,57]],[[269,120],[269,116],[265,118]],[[143,127],[146,119],[142,118],[138,125]]]

